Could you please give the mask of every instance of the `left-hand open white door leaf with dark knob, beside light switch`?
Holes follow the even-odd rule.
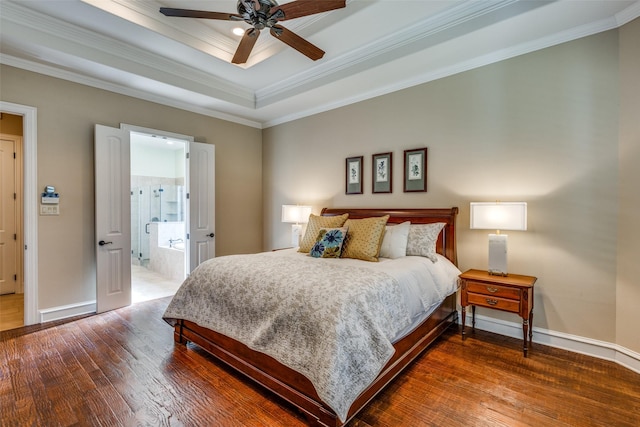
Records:
[[[96,125],[96,311],[131,304],[129,131]]]

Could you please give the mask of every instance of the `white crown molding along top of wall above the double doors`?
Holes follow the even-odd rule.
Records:
[[[44,65],[33,61],[27,61],[21,58],[2,54],[0,55],[0,64],[8,65],[22,70],[32,71],[34,73],[43,74],[49,77],[54,77],[73,83],[82,84],[85,86],[94,87],[96,89],[102,89],[109,92],[118,93],[120,95],[130,96],[132,98],[138,98],[143,101],[153,102],[155,104],[165,105],[167,107],[178,108],[180,110],[190,111],[192,113],[202,114],[204,116],[213,117],[220,120],[225,120],[232,123],[238,123],[241,125],[262,129],[262,124],[255,120],[249,120],[233,114],[222,113],[215,109],[209,109],[199,107],[187,102],[177,101],[166,96],[155,95],[153,93],[132,89],[130,87],[122,86],[106,82],[102,79],[96,79],[93,77],[87,77],[78,73],[74,73],[67,70],[61,70],[60,68],[50,65]]]

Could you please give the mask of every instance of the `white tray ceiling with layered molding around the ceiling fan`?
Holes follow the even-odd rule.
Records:
[[[282,23],[322,59],[263,31],[234,65],[241,36],[232,30],[248,24],[166,17],[160,7],[236,13],[235,0],[2,0],[0,62],[264,128],[640,16],[631,0],[347,0]]]

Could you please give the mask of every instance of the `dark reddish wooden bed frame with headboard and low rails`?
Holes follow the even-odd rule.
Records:
[[[458,208],[447,209],[337,209],[324,208],[323,216],[349,214],[359,219],[390,215],[389,223],[411,221],[413,224],[444,222],[436,249],[454,264],[456,258],[455,220]],[[244,344],[187,320],[179,320],[174,329],[176,343],[192,342],[218,360],[236,369],[248,378],[300,409],[314,426],[338,427],[346,424],[391,380],[402,372],[449,326],[457,323],[456,294],[450,295],[424,322],[409,335],[394,344],[391,360],[384,366],[374,382],[356,399],[347,419],[343,422],[329,406],[320,400],[311,382],[302,374],[282,365],[264,353],[251,350]]]

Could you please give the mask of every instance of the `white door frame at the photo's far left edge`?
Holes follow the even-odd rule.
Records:
[[[0,101],[0,111],[22,116],[23,144],[23,237],[24,324],[38,319],[38,110],[27,105]]]

